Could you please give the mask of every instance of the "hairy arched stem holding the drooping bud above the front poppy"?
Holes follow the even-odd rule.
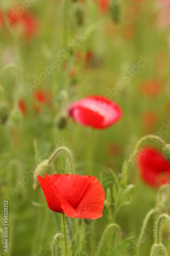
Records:
[[[56,148],[48,158],[49,163],[53,163],[62,152],[67,153],[70,162],[71,174],[74,174],[74,159],[72,157],[71,151],[66,146]]]

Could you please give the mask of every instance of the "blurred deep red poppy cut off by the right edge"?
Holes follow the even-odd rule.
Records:
[[[138,165],[141,178],[148,185],[159,187],[170,184],[170,163],[155,148],[144,148],[139,154]]]

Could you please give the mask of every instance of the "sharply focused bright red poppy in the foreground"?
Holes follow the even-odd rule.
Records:
[[[71,218],[102,217],[105,192],[93,176],[54,174],[37,176],[48,208]]]

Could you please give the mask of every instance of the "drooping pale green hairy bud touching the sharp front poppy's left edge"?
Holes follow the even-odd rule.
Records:
[[[45,177],[45,174],[53,174],[53,166],[49,163],[48,159],[43,160],[35,168],[33,174],[33,189],[37,189],[38,187],[40,187],[37,176],[41,175],[42,177]]]

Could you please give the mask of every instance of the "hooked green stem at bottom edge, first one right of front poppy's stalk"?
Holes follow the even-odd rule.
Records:
[[[103,235],[102,235],[102,238],[101,238],[101,241],[98,245],[98,249],[96,250],[95,252],[95,256],[100,256],[101,255],[101,250],[102,250],[102,246],[104,244],[104,241],[105,241],[105,237],[106,237],[106,234],[108,232],[108,230],[111,228],[111,227],[115,227],[116,228],[116,239],[115,239],[115,243],[118,241],[119,237],[120,237],[120,227],[119,225],[117,225],[116,223],[112,223],[112,224],[109,224],[105,231],[103,232]]]

